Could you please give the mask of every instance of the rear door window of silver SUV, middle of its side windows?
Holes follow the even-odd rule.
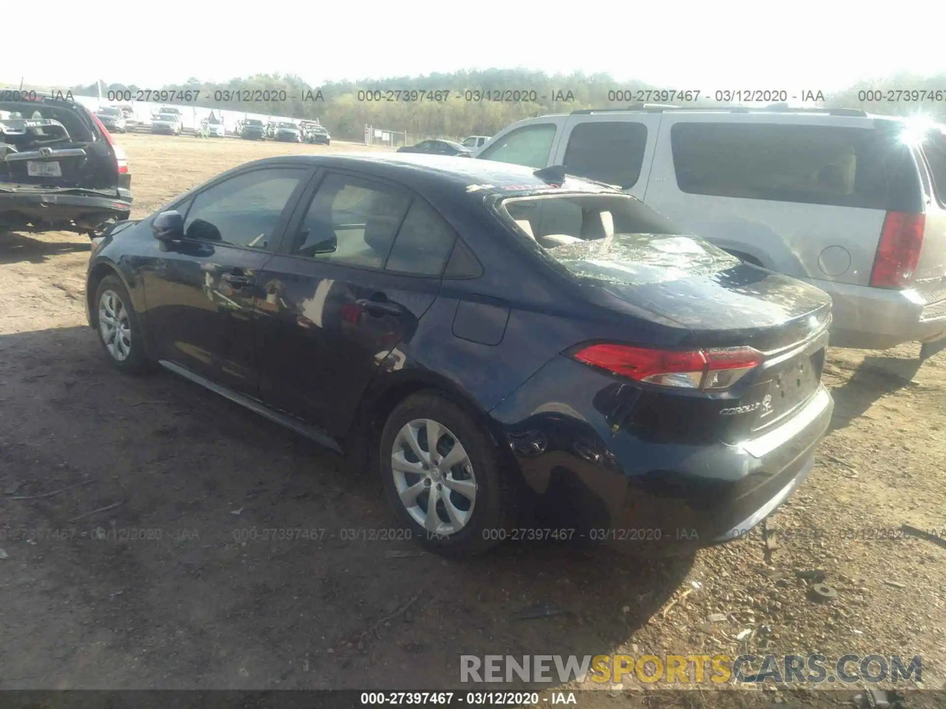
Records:
[[[573,175],[629,189],[640,177],[645,147],[647,127],[642,123],[581,123],[571,130],[564,164]]]

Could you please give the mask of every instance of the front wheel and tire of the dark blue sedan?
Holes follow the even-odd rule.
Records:
[[[96,333],[109,361],[123,372],[148,368],[141,328],[125,285],[114,275],[96,288]]]

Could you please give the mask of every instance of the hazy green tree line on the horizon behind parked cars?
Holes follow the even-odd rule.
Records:
[[[203,108],[316,119],[342,140],[361,140],[364,126],[407,131],[410,139],[493,135],[522,118],[590,108],[645,103],[715,106],[713,95],[678,95],[643,81],[616,81],[608,74],[548,75],[524,69],[487,69],[421,77],[364,79],[311,86],[291,74],[258,74],[226,82],[189,78],[161,91],[187,94]],[[98,95],[95,83],[73,86],[74,95]],[[102,95],[131,95],[134,84],[105,83]],[[790,92],[794,93],[794,92]],[[946,119],[946,75],[897,75],[861,82],[843,91],[818,93],[831,108],[905,115],[924,112]],[[169,100],[167,103],[182,103]]]

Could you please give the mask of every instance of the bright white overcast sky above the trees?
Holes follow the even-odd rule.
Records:
[[[130,0],[76,12],[74,3],[47,0],[43,7],[41,31],[4,33],[0,82],[68,86],[101,78],[157,89],[190,77],[280,73],[317,86],[521,67],[607,72],[667,89],[827,92],[899,71],[946,74],[946,51],[935,39],[946,25],[941,0],[883,7],[828,0],[304,0],[253,13],[232,2]]]

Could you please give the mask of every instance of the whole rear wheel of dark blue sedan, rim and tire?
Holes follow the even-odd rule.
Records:
[[[381,434],[380,467],[399,519],[438,553],[484,551],[515,520],[517,488],[496,445],[438,394],[415,394],[394,408]]]

